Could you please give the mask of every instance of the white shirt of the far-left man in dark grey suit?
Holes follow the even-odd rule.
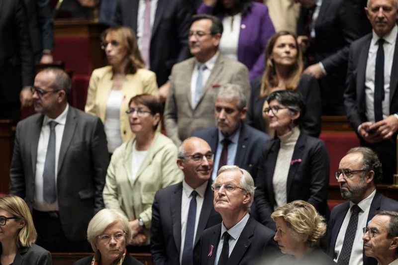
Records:
[[[66,124],[66,116],[68,114],[69,104],[66,105],[64,111],[55,119],[44,116],[43,124],[41,126],[39,143],[37,145],[37,158],[36,158],[36,173],[35,173],[35,194],[33,207],[38,211],[58,211],[58,198],[53,203],[47,203],[43,198],[43,172],[44,163],[46,162],[48,140],[50,139],[50,121],[56,121],[58,124],[55,126],[55,186],[57,186],[58,177],[58,158],[61,149],[62,137]]]

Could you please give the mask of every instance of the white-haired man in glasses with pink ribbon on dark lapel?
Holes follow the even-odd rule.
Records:
[[[223,166],[211,185],[214,209],[222,223],[203,231],[196,265],[249,265],[272,263],[280,253],[273,240],[275,232],[249,214],[254,181],[237,166]]]

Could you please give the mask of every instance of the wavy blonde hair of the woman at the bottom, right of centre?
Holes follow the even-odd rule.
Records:
[[[295,200],[278,207],[271,214],[271,218],[276,221],[279,217],[287,223],[292,236],[309,247],[318,246],[319,240],[326,233],[325,218],[314,206],[303,200]]]

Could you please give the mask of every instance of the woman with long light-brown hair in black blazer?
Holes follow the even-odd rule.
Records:
[[[266,48],[266,70],[262,78],[251,84],[251,98],[247,111],[247,123],[267,134],[274,135],[269,128],[268,117],[263,115],[267,107],[266,97],[276,90],[296,90],[307,105],[302,130],[318,137],[321,124],[321,96],[318,81],[303,75],[302,53],[296,36],[288,31],[279,31],[268,42]]]

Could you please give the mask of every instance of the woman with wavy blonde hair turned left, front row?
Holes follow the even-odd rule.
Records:
[[[271,218],[277,227],[274,240],[281,252],[288,254],[277,259],[274,265],[335,264],[319,248],[319,241],[326,233],[326,223],[314,206],[295,200],[278,207]]]

